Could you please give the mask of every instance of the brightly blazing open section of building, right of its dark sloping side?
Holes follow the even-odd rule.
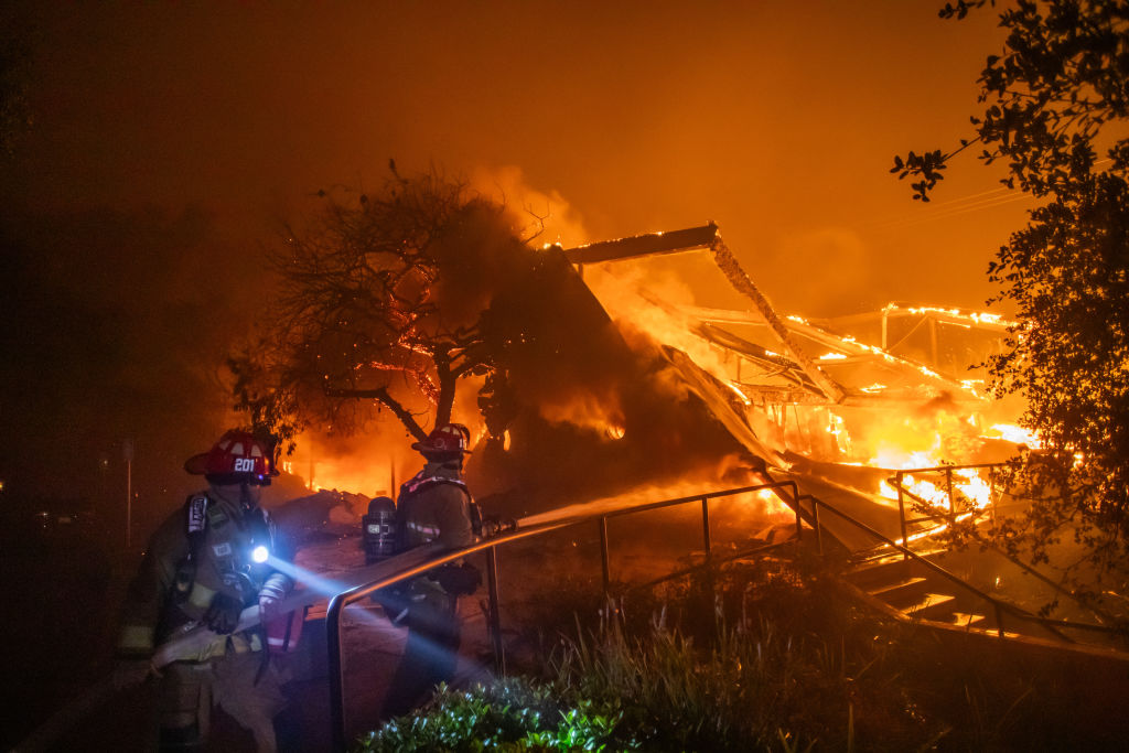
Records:
[[[1010,423],[1018,406],[984,392],[983,365],[1001,352],[1012,324],[999,316],[896,304],[828,319],[784,315],[712,224],[561,253],[621,330],[660,343],[669,371],[746,459],[891,537],[899,534],[896,485],[925,504],[947,496],[924,472],[891,483],[898,471],[1001,462],[1017,441],[1032,441]],[[708,259],[747,305],[672,300],[616,269],[667,254]],[[955,473],[949,484],[966,504],[990,501],[975,470]]]

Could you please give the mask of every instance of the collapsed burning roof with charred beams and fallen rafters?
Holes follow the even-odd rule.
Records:
[[[890,475],[883,469],[896,466],[868,455],[851,456],[849,448],[843,452],[838,436],[842,417],[861,417],[859,422],[865,423],[876,414],[910,415],[938,402],[963,405],[970,413],[987,406],[980,383],[968,378],[969,365],[1000,352],[1010,326],[984,314],[896,304],[826,319],[781,315],[742,269],[714,224],[562,253],[581,278],[584,266],[590,264],[708,254],[750,306],[675,305],[642,291],[648,304],[684,323],[682,335],[689,334],[718,356],[695,360],[667,344],[671,365],[737,441],[777,470],[777,479],[799,481],[802,488],[843,505],[891,537],[898,535],[896,515],[891,515],[892,502],[878,488],[881,479]],[[821,421],[822,429],[811,430]],[[848,434],[846,427],[842,434]],[[848,528],[832,533],[852,549],[866,543]]]

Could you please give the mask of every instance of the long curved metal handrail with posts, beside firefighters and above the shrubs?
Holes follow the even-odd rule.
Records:
[[[505,653],[501,646],[501,631],[498,620],[499,616],[498,578],[497,578],[498,573],[497,573],[497,559],[496,559],[496,551],[502,544],[508,544],[510,542],[518,541],[522,539],[530,539],[534,536],[544,535],[546,533],[579,525],[581,523],[597,520],[599,524],[599,536],[601,536],[601,564],[603,570],[603,585],[604,585],[604,594],[606,595],[609,593],[611,585],[611,563],[609,557],[609,540],[607,540],[609,518],[700,501],[702,505],[702,540],[706,549],[706,562],[701,567],[711,568],[711,566],[714,564],[714,560],[712,560],[712,544],[710,541],[709,501],[723,497],[733,497],[736,494],[744,494],[753,491],[762,491],[765,489],[781,490],[785,488],[791,489],[791,500],[793,504],[795,505],[795,511],[796,511],[796,541],[798,542],[800,539],[800,532],[803,529],[803,522],[799,511],[799,500],[802,499],[802,497],[799,496],[799,488],[797,487],[795,481],[778,481],[763,484],[755,484],[751,487],[738,487],[735,489],[726,489],[723,491],[707,492],[704,494],[693,494],[691,497],[680,497],[676,499],[662,500],[658,502],[646,502],[642,505],[636,505],[633,507],[622,508],[619,510],[612,510],[605,513],[590,513],[588,515],[578,515],[570,518],[564,518],[562,520],[555,520],[552,523],[528,526],[525,528],[517,528],[516,531],[502,534],[500,536],[479,541],[469,546],[464,546],[462,549],[437,555],[435,558],[427,560],[421,564],[409,567],[395,575],[380,578],[378,580],[373,580],[370,583],[362,584],[360,586],[355,586],[353,588],[336,594],[335,596],[333,596],[333,598],[330,599],[329,606],[325,611],[325,632],[326,632],[329,672],[330,672],[330,713],[331,713],[331,721],[333,725],[334,750],[344,751],[348,745],[348,742],[345,739],[345,718],[344,718],[344,672],[342,671],[342,660],[341,660],[342,659],[341,615],[344,612],[344,607],[348,606],[349,604],[360,601],[366,596],[369,596],[376,593],[377,590],[380,590],[382,588],[386,588],[387,586],[392,586],[402,580],[406,580],[409,578],[422,575],[436,567],[446,564],[447,562],[453,562],[469,554],[474,554],[476,552],[485,550],[488,555],[487,579],[490,594],[489,620],[490,620],[492,648],[495,650],[495,664],[496,667],[500,667],[504,669]],[[782,497],[782,494],[780,494],[779,492],[778,496]],[[786,504],[787,501],[788,500],[785,499]],[[817,520],[819,519],[817,508],[813,507],[813,510],[815,518]],[[820,532],[817,523],[815,528],[816,528],[816,534],[819,535]],[[822,548],[822,539],[820,541]],[[774,546],[770,545],[762,549],[774,549]]]

